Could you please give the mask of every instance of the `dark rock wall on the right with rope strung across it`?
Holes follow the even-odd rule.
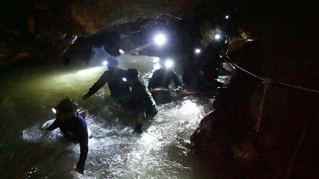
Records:
[[[261,16],[256,17],[259,39],[231,53],[233,62],[273,82],[318,90],[318,54],[309,53],[318,49],[317,43],[309,42],[318,36],[300,31],[312,32],[318,25],[313,12],[307,5],[281,12],[260,5],[265,6],[259,7]],[[303,19],[302,14],[309,16]],[[317,176],[319,94],[262,82],[237,68],[230,85],[217,90],[214,110],[191,136],[195,153],[213,162],[222,158],[229,178]]]

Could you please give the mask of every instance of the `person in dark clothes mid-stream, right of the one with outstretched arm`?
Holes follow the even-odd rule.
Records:
[[[122,99],[128,101],[136,108],[138,113],[138,124],[135,131],[137,133],[142,133],[142,121],[154,117],[158,113],[157,106],[145,81],[138,76],[138,71],[136,69],[128,69],[126,79],[132,88],[132,92]]]

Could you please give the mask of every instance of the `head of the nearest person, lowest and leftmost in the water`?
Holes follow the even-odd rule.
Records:
[[[67,122],[79,116],[77,111],[78,103],[69,97],[62,99],[62,101],[54,108],[56,111],[56,119],[62,122]]]

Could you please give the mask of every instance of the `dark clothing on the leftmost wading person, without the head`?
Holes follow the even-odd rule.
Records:
[[[88,152],[88,134],[85,119],[80,115],[68,122],[61,122],[58,119],[55,119],[52,125],[47,128],[47,130],[52,131],[56,128],[60,128],[63,134],[76,139],[80,143],[80,158],[78,166],[83,168]]]

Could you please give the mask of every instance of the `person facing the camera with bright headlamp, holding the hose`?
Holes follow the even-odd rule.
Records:
[[[162,65],[163,66],[163,65]],[[158,90],[154,91],[155,88],[168,88],[168,85],[174,81],[176,91],[181,90],[181,82],[176,72],[172,68],[170,61],[166,61],[165,65],[154,71],[150,82],[148,83],[148,89],[152,91],[152,96],[157,105],[170,103],[172,98],[169,91]]]

